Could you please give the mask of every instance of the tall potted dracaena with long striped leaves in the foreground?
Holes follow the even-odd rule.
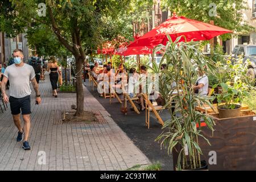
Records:
[[[153,63],[148,67],[152,72],[160,73],[159,93],[165,99],[164,107],[170,112],[170,119],[164,122],[162,128],[163,133],[155,140],[161,142],[161,148],[167,148],[168,154],[177,154],[177,170],[206,169],[207,163],[200,158],[202,151],[199,137],[210,143],[201,134],[201,121],[204,121],[212,132],[214,121],[208,115],[197,111],[196,106],[208,104],[212,107],[209,101],[212,97],[197,96],[191,86],[195,84],[196,68],[204,71],[206,65],[208,70],[214,71],[214,64],[200,51],[198,42],[179,42],[180,38],[172,42],[168,36],[169,42],[166,46],[159,45],[155,48],[155,52],[163,52],[160,64]],[[163,63],[167,64],[167,67],[160,71]],[[175,88],[171,86],[174,83]]]

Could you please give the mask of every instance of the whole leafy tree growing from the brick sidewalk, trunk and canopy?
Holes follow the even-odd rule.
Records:
[[[6,8],[5,11],[0,11],[1,31],[5,31],[6,27],[11,27],[11,24],[18,26],[11,27],[12,35],[18,34],[25,27],[49,27],[59,44],[75,57],[75,73],[77,74],[77,88],[79,88],[77,89],[79,97],[77,97],[76,114],[81,115],[84,109],[84,92],[81,89],[82,64],[86,55],[92,55],[93,50],[96,50],[102,42],[106,39],[112,40],[119,35],[120,26],[115,26],[114,20],[122,15],[130,1],[10,0],[5,3],[11,9]],[[38,14],[39,3],[46,4],[46,16]],[[5,14],[10,14],[11,18],[6,19]]]

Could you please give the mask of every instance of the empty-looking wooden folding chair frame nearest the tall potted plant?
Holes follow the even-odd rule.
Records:
[[[163,106],[154,106],[150,100],[148,100],[147,94],[142,93],[142,97],[144,101],[146,102],[146,126],[149,129],[150,128],[150,111],[155,114],[156,118],[158,119],[158,122],[161,125],[164,125],[163,119],[160,117],[158,110],[163,110]]]

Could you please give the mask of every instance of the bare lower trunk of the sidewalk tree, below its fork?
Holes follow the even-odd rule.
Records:
[[[76,57],[76,116],[84,112],[84,89],[82,88],[82,57]]]

